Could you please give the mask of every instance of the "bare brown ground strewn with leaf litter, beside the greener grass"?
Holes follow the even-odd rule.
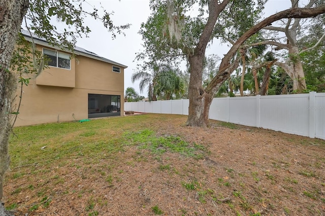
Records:
[[[67,158],[66,166],[6,182],[4,201],[18,203],[16,215],[325,215],[325,141],[217,121],[193,128],[185,121],[155,122],[156,132],[203,145],[202,158],[171,152],[157,158],[137,146],[101,164],[80,160],[82,169]],[[110,179],[90,171],[103,164]],[[54,172],[61,182],[46,180]],[[14,193],[30,185],[42,187]],[[47,204],[31,211],[36,202]]]

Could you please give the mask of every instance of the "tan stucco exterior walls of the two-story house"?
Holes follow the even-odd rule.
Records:
[[[43,46],[37,45],[38,49]],[[51,49],[51,48],[47,48]],[[45,68],[23,86],[19,115],[15,126],[75,121],[88,118],[88,94],[119,95],[124,114],[124,68],[112,71],[112,64],[76,55],[71,69]],[[17,95],[20,95],[20,87]],[[19,97],[17,97],[19,98]],[[18,105],[18,99],[15,103]]]

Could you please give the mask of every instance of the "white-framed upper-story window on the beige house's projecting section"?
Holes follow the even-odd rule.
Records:
[[[43,54],[48,59],[49,66],[70,69],[70,55],[43,48]]]

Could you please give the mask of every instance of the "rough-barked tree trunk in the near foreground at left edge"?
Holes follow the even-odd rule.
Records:
[[[11,132],[11,102],[16,93],[17,80],[9,70],[17,34],[28,0],[0,0],[0,200],[3,198],[4,175],[9,168],[8,142]],[[0,215],[7,215],[0,208]]]

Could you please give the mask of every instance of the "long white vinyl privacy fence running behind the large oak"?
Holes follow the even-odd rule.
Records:
[[[125,102],[125,111],[188,115],[188,99]],[[209,119],[325,139],[325,93],[214,98]]]

